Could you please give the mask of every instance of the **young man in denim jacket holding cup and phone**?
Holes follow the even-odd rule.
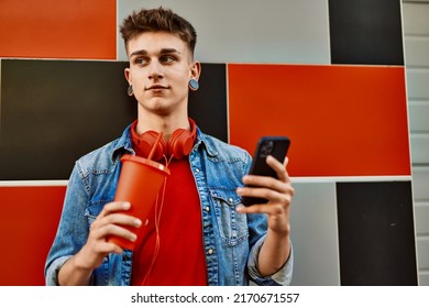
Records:
[[[191,24],[163,8],[134,12],[121,26],[130,67],[129,95],[138,120],[122,136],[76,162],[57,235],[45,266],[48,285],[287,285],[292,278],[289,206],[294,195],[285,164],[268,156],[279,179],[246,176],[251,156],[204,134],[188,118],[188,91],[198,88]],[[123,154],[155,156],[168,165],[162,207],[148,223],[120,213],[114,202]],[[188,148],[176,146],[177,132]],[[143,146],[146,144],[146,146]],[[184,145],[184,147],[187,147]],[[243,187],[244,184],[256,186]],[[144,194],[144,191],[142,191]],[[241,197],[266,205],[242,207]],[[143,228],[134,234],[123,226]],[[108,242],[118,235],[134,251]]]

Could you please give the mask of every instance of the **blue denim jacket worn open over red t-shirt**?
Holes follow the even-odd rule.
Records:
[[[57,285],[63,264],[86,243],[89,227],[103,206],[114,198],[123,154],[134,154],[130,127],[122,136],[75,164],[72,172],[57,234],[45,265],[47,285]],[[248,152],[204,134],[189,155],[201,204],[202,235],[208,285],[288,285],[293,254],[274,275],[262,277],[257,255],[266,233],[265,215],[240,215],[235,194],[249,172]],[[130,285],[132,251],[109,254],[92,273],[91,285]]]

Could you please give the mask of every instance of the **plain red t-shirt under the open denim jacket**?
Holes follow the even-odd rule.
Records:
[[[154,206],[148,223],[142,227],[133,254],[131,284],[207,285],[201,207],[188,158],[173,160],[168,168],[170,175],[166,180],[164,202],[162,202],[162,190],[157,206]],[[158,237],[155,209],[158,216],[161,211]],[[156,245],[158,253],[154,256]]]

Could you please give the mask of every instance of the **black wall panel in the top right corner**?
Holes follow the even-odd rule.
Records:
[[[332,64],[404,65],[400,0],[329,0]]]

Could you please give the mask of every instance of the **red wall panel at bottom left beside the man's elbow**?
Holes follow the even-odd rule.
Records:
[[[0,286],[44,285],[66,187],[0,187]]]

